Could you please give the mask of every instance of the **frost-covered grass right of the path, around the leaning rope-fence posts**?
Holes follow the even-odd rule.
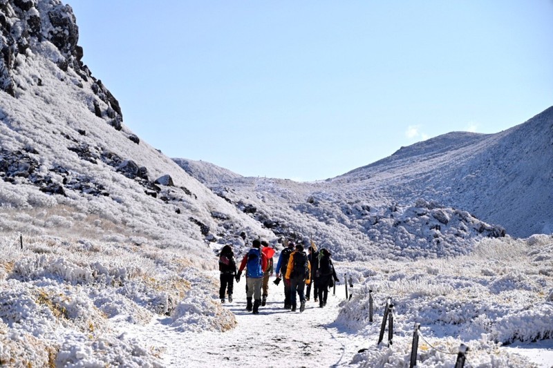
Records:
[[[374,260],[362,274],[362,265],[340,262],[337,270],[353,275],[355,285],[351,300],[342,303],[337,323],[374,342],[354,359],[366,367],[409,365],[415,323],[438,349],[456,354],[461,343],[468,345],[467,359],[473,366],[529,366],[499,354],[498,348],[553,337],[552,254],[553,238],[533,235],[527,240],[482,240],[471,254],[457,258]],[[375,306],[372,323],[369,290]],[[394,304],[396,340],[382,350],[376,339],[386,298]],[[421,340],[419,362],[438,367],[442,360],[444,354]],[[455,357],[449,360],[454,362]]]

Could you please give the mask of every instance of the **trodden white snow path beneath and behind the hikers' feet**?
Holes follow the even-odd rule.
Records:
[[[144,327],[126,331],[144,345],[161,351],[169,367],[339,367],[348,365],[359,349],[369,342],[333,325],[345,299],[344,285],[332,290],[327,305],[306,302],[303,313],[283,309],[283,284],[270,279],[265,307],[254,315],[245,310],[245,278],[234,283],[234,300],[225,308],[236,314],[238,325],[225,333],[178,332],[155,318]],[[343,280],[342,280],[343,281]]]

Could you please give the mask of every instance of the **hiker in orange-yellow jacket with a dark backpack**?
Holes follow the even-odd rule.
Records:
[[[299,296],[299,311],[306,309],[306,296],[303,293],[306,284],[310,282],[311,266],[306,252],[303,251],[303,245],[297,244],[295,251],[290,254],[288,267],[284,280],[290,280],[290,302],[292,303],[292,312],[296,311],[296,293]]]

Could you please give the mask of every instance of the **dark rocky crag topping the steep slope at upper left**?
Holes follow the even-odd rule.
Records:
[[[91,102],[91,111],[115,130],[122,130],[119,101],[82,63],[84,53],[78,41],[79,27],[71,6],[59,0],[0,0],[0,90],[17,97],[14,73],[18,55],[26,55],[28,48],[38,50],[41,43],[48,42],[58,53],[46,57],[64,72],[71,68],[83,81],[92,81],[97,100]],[[41,79],[37,84],[42,84]]]

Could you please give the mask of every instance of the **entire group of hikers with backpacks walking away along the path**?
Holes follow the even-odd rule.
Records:
[[[317,250],[314,242],[310,242],[308,254],[304,251],[303,244],[284,240],[283,245],[284,249],[279,255],[276,269],[272,259],[275,251],[265,240],[252,241],[252,248],[243,256],[239,267],[232,246],[223,246],[219,253],[221,303],[225,303],[225,295],[228,295],[229,302],[232,302],[234,281],[240,282],[242,273],[246,270],[246,309],[259,314],[259,307],[264,307],[267,302],[269,278],[274,271],[277,276],[274,284],[278,285],[283,280],[284,309],[297,311],[299,298],[299,311],[303,312],[306,301],[310,300],[311,290],[315,302],[319,302],[319,307],[324,308],[328,288],[339,282],[330,251],[326,248]],[[306,286],[307,295],[304,292]]]

